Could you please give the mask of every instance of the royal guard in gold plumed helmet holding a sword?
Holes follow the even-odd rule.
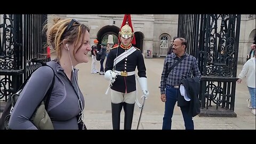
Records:
[[[146,67],[143,55],[135,44],[131,15],[125,14],[118,34],[119,45],[107,57],[105,78],[110,81],[111,112],[114,130],[120,129],[120,114],[124,108],[124,130],[131,130],[136,95],[135,68],[145,98],[148,97]]]

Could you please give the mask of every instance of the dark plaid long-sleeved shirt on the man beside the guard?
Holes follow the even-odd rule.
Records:
[[[183,57],[183,56],[182,56]],[[182,79],[186,79],[191,77],[191,73],[193,76],[197,76],[201,79],[201,73],[199,71],[196,58],[192,55],[188,55],[185,59],[183,59],[177,66],[175,66],[169,73],[169,69],[172,67],[174,63],[176,63],[180,58],[176,56],[176,54],[171,53],[166,56],[164,60],[164,68],[161,76],[161,94],[165,93],[165,86],[168,85],[180,85],[180,81]]]

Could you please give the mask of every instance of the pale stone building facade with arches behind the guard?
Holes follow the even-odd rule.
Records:
[[[91,43],[95,38],[101,43],[105,35],[118,36],[124,14],[49,14],[49,25],[56,17],[74,18],[84,23],[90,28]],[[137,43],[135,47],[144,55],[150,50],[151,57],[165,57],[173,37],[178,33],[178,14],[132,14],[131,18]],[[2,14],[0,19],[3,19]],[[256,41],[255,20],[255,14],[242,14],[238,64],[246,62],[250,46]]]

